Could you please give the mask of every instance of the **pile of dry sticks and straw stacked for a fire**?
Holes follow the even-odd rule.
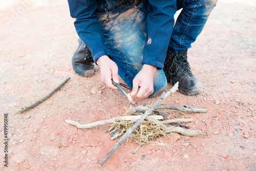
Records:
[[[160,104],[163,99],[165,99],[168,95],[173,94],[178,90],[178,82],[174,85],[172,89],[170,89],[167,93],[163,92],[161,96],[158,98],[156,102],[154,102],[151,106],[137,106],[137,107],[130,107],[130,109],[127,111],[127,114],[130,114],[130,116],[120,116],[108,120],[102,120],[102,121],[97,121],[93,123],[88,123],[88,124],[80,124],[76,121],[72,120],[65,120],[67,123],[76,126],[78,129],[89,129],[98,125],[103,125],[103,124],[111,124],[115,123],[114,126],[111,127],[108,131],[111,131],[114,127],[114,130],[117,130],[117,127],[120,126],[121,124],[130,124],[130,126],[126,127],[124,129],[121,127],[119,129],[119,132],[115,134],[114,136],[111,137],[111,139],[116,139],[119,136],[122,136],[116,144],[110,149],[109,153],[106,154],[106,156],[99,161],[98,165],[101,166],[108,158],[116,151],[116,149],[123,143],[123,141],[131,136],[131,134],[134,133],[136,128],[139,125],[144,124],[145,126],[150,124],[153,124],[155,127],[158,128],[159,132],[163,134],[156,134],[157,136],[159,135],[165,135],[166,133],[180,133],[184,136],[198,136],[198,135],[203,135],[202,131],[197,131],[197,130],[186,130],[183,129],[182,127],[179,126],[184,126],[179,123],[181,122],[191,122],[193,121],[192,118],[183,118],[183,119],[170,119],[170,115],[161,111],[160,109],[172,109],[172,110],[178,110],[178,111],[186,111],[186,112],[200,112],[200,113],[206,113],[205,109],[197,109],[194,106],[179,106],[179,105],[166,105],[166,104]],[[131,115],[134,113],[142,113],[144,112],[143,115]],[[152,115],[154,113],[155,115]],[[156,115],[157,114],[157,115]],[[133,124],[134,123],[134,124]],[[172,124],[173,126],[167,126],[166,124]],[[157,137],[155,136],[155,137]],[[153,136],[154,138],[154,136]],[[148,139],[148,137],[146,137]],[[139,141],[141,144],[145,140],[142,139]]]

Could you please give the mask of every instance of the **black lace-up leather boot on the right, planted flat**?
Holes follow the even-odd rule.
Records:
[[[177,54],[168,48],[163,70],[167,81],[172,80],[174,84],[179,81],[180,93],[196,95],[203,92],[201,81],[191,72],[187,61],[187,50]]]

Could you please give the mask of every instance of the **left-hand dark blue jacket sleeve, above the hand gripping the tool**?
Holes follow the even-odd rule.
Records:
[[[102,25],[94,13],[96,0],[68,0],[68,3],[71,17],[76,18],[76,32],[92,52],[94,61],[102,55],[110,55],[104,43]]]

